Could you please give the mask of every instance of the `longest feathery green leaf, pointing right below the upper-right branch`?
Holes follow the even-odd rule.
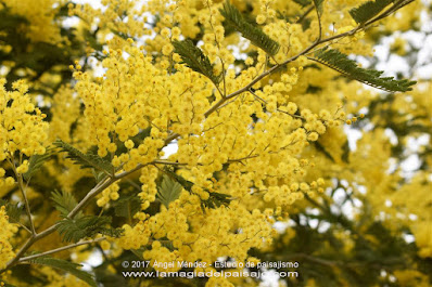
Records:
[[[387,92],[410,91],[412,90],[410,87],[416,83],[416,81],[407,79],[395,80],[393,77],[381,77],[383,74],[381,70],[360,68],[355,61],[350,60],[347,55],[338,50],[320,49],[309,60],[338,70],[348,78]]]

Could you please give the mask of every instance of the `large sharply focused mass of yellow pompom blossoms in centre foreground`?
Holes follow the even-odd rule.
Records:
[[[147,40],[147,45],[117,37],[109,41],[102,62],[105,74],[97,79],[75,66],[75,90],[86,107],[89,140],[98,145],[100,156],[111,155],[115,167],[130,170],[160,160],[165,139],[176,133],[178,151],[167,160],[181,165],[178,173],[194,183],[192,191],[183,190],[169,208],[162,207],[154,216],[137,213],[139,223],[126,224],[125,235],[115,242],[124,249],[151,245],[143,257],[154,261],[211,263],[221,256],[244,261],[251,248],[271,242],[275,217],[285,218],[285,208],[305,194],[322,192],[322,179],[305,180],[306,169],[314,162],[298,155],[329,128],[344,122],[345,114],[338,107],[338,94],[318,106],[307,105],[313,102],[309,99],[302,102],[301,95],[308,88],[309,74],[315,73],[317,87],[334,75],[323,76],[326,81],[321,81],[323,73],[303,70],[308,64],[303,56],[282,74],[257,82],[254,93],[242,93],[207,113],[223,93],[236,92],[259,75],[267,57],[258,50],[256,65],[250,60],[251,66],[237,75],[230,68],[236,56],[227,48],[232,39],[224,37],[223,17],[217,12],[220,3],[148,3],[162,17],[154,29],[156,36]],[[271,17],[271,10],[267,16]],[[171,41],[193,34],[186,28],[193,22],[204,27],[202,51],[215,64],[215,73],[226,70],[225,81],[217,87],[179,64],[181,58],[173,52]],[[305,38],[301,25],[282,24],[275,19],[264,27],[282,42],[276,61],[298,53],[312,38]],[[253,121],[251,115],[258,120]],[[150,136],[136,144],[132,136],[144,129],[150,129]],[[119,142],[127,151],[115,155]],[[154,166],[141,169],[142,210],[155,201],[157,177]],[[202,201],[214,192],[233,200],[229,207],[205,208],[203,212]],[[102,193],[98,205],[104,207],[117,197],[118,186],[113,185]]]

